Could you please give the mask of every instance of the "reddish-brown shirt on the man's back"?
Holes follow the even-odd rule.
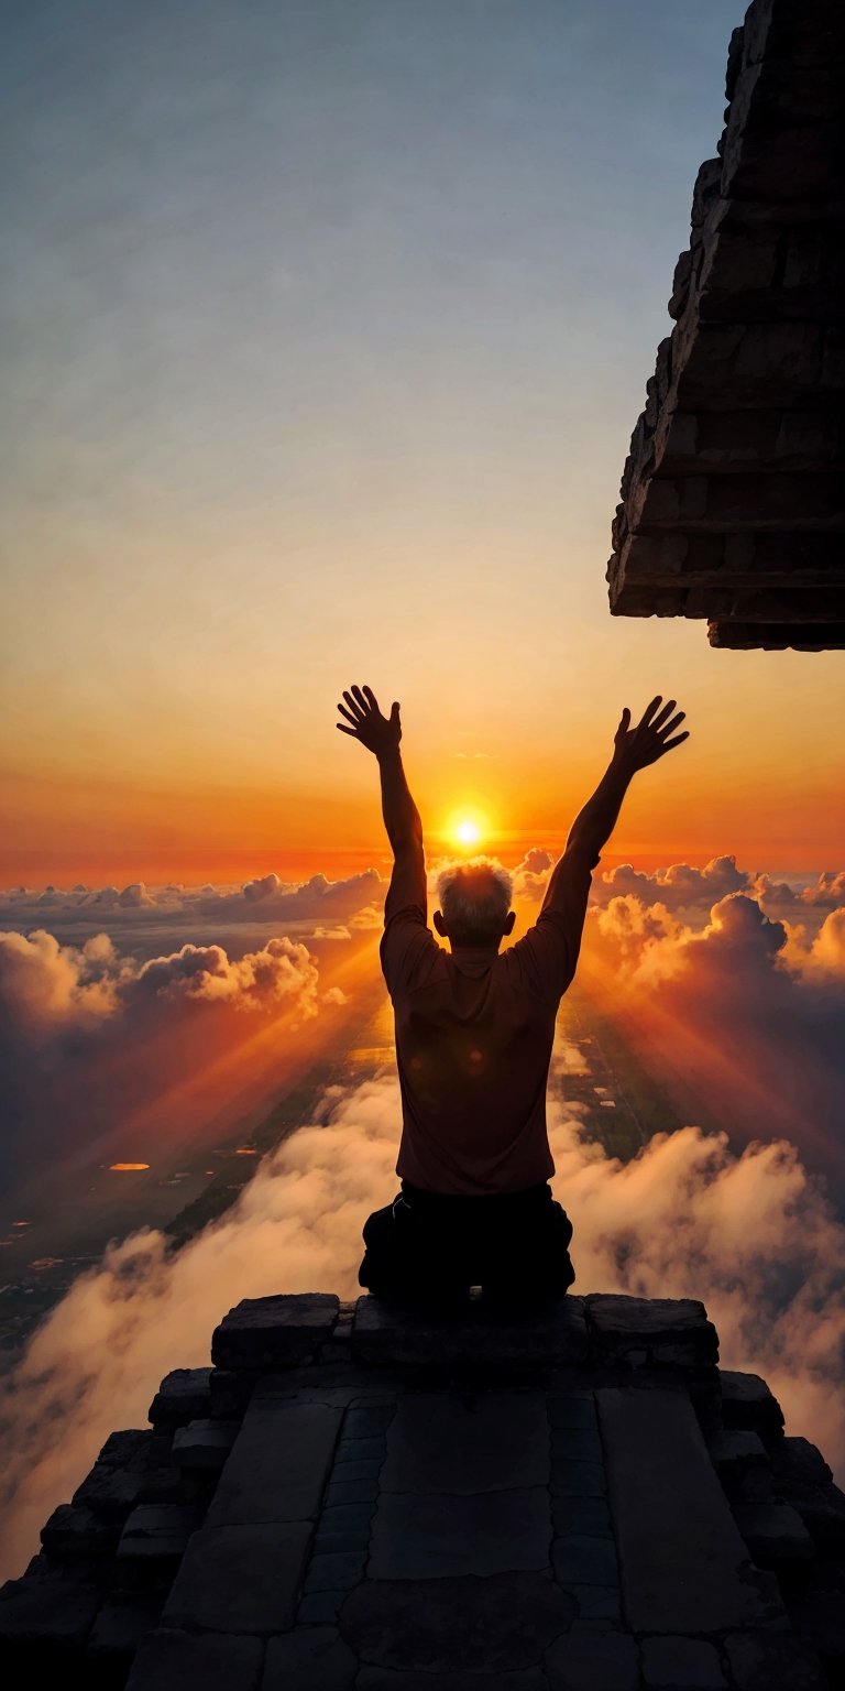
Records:
[[[382,971],[402,1092],[395,1170],[428,1192],[524,1192],[554,1174],[546,1081],[598,856],[566,852],[554,896],[507,950],[438,945],[421,901],[390,888]],[[409,886],[414,891],[414,886]]]

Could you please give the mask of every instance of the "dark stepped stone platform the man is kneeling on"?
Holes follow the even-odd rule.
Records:
[[[831,1691],[845,1497],[701,1304],[238,1304],[0,1593],[86,1691]],[[12,1683],[12,1681],[10,1681]]]

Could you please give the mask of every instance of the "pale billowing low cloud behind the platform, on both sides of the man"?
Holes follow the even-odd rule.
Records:
[[[142,1231],[73,1285],[2,1387],[5,1573],[20,1571],[106,1434],[145,1422],[159,1378],[208,1361],[232,1304],[357,1295],[363,1219],[397,1185],[397,1121],[395,1079],[330,1087],[318,1121],[260,1163],[223,1221],[176,1256]],[[762,1373],[788,1429],[842,1468],[845,1229],[796,1150],[754,1143],[735,1155],[725,1133],[686,1126],[622,1165],[583,1141],[559,1099],[549,1133],[554,1192],[575,1223],[575,1290],[703,1299],[722,1366]]]

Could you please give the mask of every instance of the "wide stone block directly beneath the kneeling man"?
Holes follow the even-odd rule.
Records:
[[[460,1319],[390,1309],[360,1297],[352,1333],[358,1361],[411,1366],[512,1366],[578,1363],[586,1356],[583,1300],[563,1297],[536,1314],[497,1317],[470,1304]]]

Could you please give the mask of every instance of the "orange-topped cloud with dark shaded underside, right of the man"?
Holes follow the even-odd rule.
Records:
[[[625,895],[588,911],[581,955],[684,1109],[740,1141],[786,1136],[845,1201],[842,923],[810,942],[747,893],[701,927]]]

